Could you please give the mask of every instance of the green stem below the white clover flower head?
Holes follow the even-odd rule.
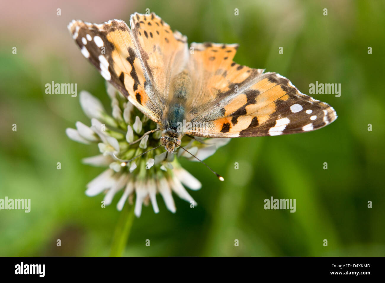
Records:
[[[132,223],[134,223],[134,205],[126,205],[121,211],[121,216],[116,225],[114,238],[112,238],[110,256],[122,256],[130,236]]]

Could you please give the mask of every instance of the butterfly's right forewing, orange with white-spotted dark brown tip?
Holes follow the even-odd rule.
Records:
[[[227,92],[210,112],[198,117],[192,120],[198,126],[187,134],[254,137],[313,131],[337,116],[330,105],[302,94],[285,77],[268,72],[250,79],[238,92]]]

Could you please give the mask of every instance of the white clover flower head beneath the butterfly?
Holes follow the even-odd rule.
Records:
[[[83,144],[97,144],[101,154],[86,157],[84,164],[107,167],[99,176],[87,184],[87,196],[105,193],[106,205],[112,203],[115,194],[120,195],[117,209],[120,211],[128,202],[133,205],[134,213],[141,215],[142,205],[151,202],[155,213],[159,212],[156,195],[159,193],[166,207],[176,212],[172,193],[181,199],[196,205],[196,201],[184,186],[198,190],[202,184],[181,167],[176,156],[196,161],[191,154],[177,149],[167,154],[160,144],[161,132],[157,131],[144,136],[140,142],[130,144],[141,138],[147,131],[157,128],[157,124],[149,120],[134,105],[127,101],[120,92],[107,83],[107,93],[111,99],[112,116],[109,116],[99,99],[88,92],[80,92],[80,104],[83,111],[91,119],[91,126],[76,122],[76,129],[66,129],[67,136]],[[107,125],[107,126],[106,126]],[[185,136],[182,146],[203,160],[224,146],[230,139],[191,139]],[[149,151],[127,164],[125,160]]]

